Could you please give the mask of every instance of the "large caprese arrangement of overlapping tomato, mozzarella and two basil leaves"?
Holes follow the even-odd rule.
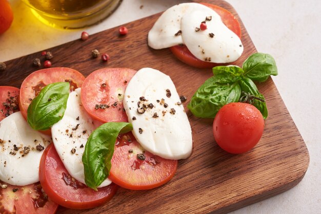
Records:
[[[176,88],[151,68],[43,69],[0,94],[0,213],[96,207],[163,185],[192,152]]]

